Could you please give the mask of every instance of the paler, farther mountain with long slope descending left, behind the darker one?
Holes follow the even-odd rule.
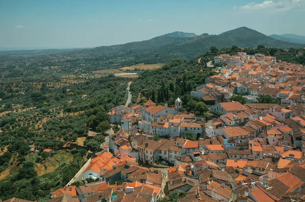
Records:
[[[78,54],[111,55],[111,54],[139,51],[144,49],[154,49],[168,44],[185,41],[191,39],[194,36],[196,36],[195,33],[185,33],[182,31],[175,31],[146,41],[130,42],[127,44],[119,44],[113,46],[100,46],[93,49],[82,50],[78,52]]]

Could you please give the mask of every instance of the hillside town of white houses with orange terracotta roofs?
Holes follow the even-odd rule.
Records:
[[[119,129],[82,168],[84,184],[49,201],[304,200],[304,66],[246,52],[214,63],[218,74],[191,96],[215,118],[186,113],[179,97],[117,106],[108,115]]]

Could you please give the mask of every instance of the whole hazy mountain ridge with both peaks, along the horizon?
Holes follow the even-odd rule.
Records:
[[[272,39],[248,27],[239,27],[219,35],[204,33],[196,37],[185,38],[189,36],[195,36],[195,34],[176,31],[146,41],[86,49],[78,51],[78,54],[110,55],[137,53],[138,59],[153,57],[156,54],[162,55],[164,58],[168,56],[168,58],[189,59],[209,51],[211,46],[216,46],[218,49],[231,47],[232,45],[255,48],[260,44],[274,48],[305,47],[303,44]]]

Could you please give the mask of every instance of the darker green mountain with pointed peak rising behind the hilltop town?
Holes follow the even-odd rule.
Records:
[[[220,35],[208,35],[207,33],[204,33],[203,35],[183,42],[162,46],[154,51],[159,51],[161,55],[174,54],[176,58],[189,59],[209,51],[211,46],[216,46],[218,49],[231,47],[232,45],[244,48],[254,48],[260,44],[274,48],[305,47],[303,44],[283,42],[267,37],[256,30],[240,27],[223,32]]]

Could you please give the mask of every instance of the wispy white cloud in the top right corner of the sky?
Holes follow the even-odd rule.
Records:
[[[235,7],[234,7],[235,9]],[[240,6],[243,11],[268,10],[271,12],[283,12],[296,9],[305,9],[305,0],[266,0],[260,4],[250,3]]]

